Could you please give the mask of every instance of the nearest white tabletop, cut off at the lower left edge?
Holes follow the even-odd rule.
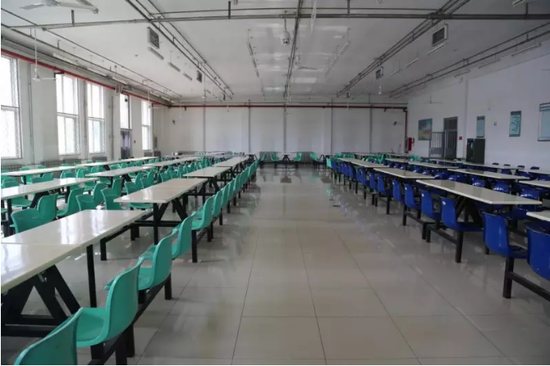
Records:
[[[2,243],[0,246],[2,293],[80,251],[83,249],[76,246]]]

